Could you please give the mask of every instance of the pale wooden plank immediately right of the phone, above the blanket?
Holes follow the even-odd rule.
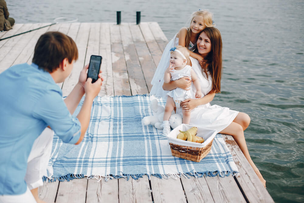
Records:
[[[99,54],[102,56],[102,82],[99,95],[114,95],[112,54],[110,40],[110,23],[100,24]]]

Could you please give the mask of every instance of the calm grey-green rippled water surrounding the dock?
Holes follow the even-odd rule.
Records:
[[[276,202],[304,202],[304,26],[302,0],[116,1],[7,0],[16,23],[156,21],[168,39],[198,9],[214,14],[223,37],[222,93],[212,104],[246,112],[250,155]],[[178,2],[178,3],[177,3]],[[187,2],[187,3],[186,3]]]

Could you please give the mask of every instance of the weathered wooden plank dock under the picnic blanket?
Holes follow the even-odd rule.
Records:
[[[0,38],[32,30],[51,23],[15,24],[0,32]],[[153,28],[153,29],[152,29]],[[12,65],[31,64],[35,44],[41,34],[60,31],[77,44],[78,61],[71,75],[58,84],[67,96],[90,56],[101,55],[105,79],[100,95],[136,95],[150,92],[150,81],[161,59],[167,38],[156,22],[140,23],[62,23],[0,41],[0,73]],[[47,202],[273,202],[240,148],[230,135],[223,135],[240,171],[236,177],[202,177],[174,180],[147,176],[113,179],[82,178],[44,183],[40,198]]]

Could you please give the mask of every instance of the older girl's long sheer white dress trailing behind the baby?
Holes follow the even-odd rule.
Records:
[[[162,97],[163,100],[167,99],[168,91],[163,90],[164,84],[164,73],[165,70],[169,67],[170,64],[170,49],[172,47],[176,47],[178,45],[178,37],[177,34],[174,35],[173,39],[167,44],[164,49],[163,55],[161,56],[161,60],[157,66],[157,69],[154,73],[154,77],[151,81],[151,91],[150,94],[155,95],[156,97]],[[194,45],[190,42],[188,49],[191,49]]]

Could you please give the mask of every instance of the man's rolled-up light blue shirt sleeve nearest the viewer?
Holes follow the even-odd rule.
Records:
[[[33,117],[46,122],[63,142],[75,144],[79,140],[81,124],[71,115],[58,92],[47,92],[34,108]]]

